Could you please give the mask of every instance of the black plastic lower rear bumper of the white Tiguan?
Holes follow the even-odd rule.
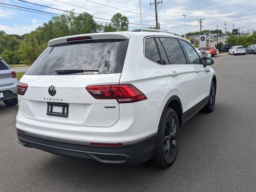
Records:
[[[150,160],[154,153],[156,135],[141,142],[125,146],[92,146],[88,144],[76,144],[60,142],[31,136],[17,131],[18,142],[26,147],[37,148],[59,154],[96,160],[107,164],[140,164]]]

